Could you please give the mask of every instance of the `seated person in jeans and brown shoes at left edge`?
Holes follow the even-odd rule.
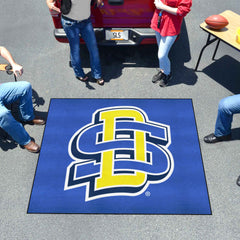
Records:
[[[11,64],[16,76],[17,73],[22,75],[23,67],[13,60],[5,47],[0,47],[0,56]],[[22,123],[16,121],[11,111],[6,107],[16,101],[19,101],[19,118],[22,122],[37,125],[45,124],[43,119],[34,116],[31,84],[21,81],[0,84],[0,127],[28,151],[39,152],[40,147],[31,140]]]

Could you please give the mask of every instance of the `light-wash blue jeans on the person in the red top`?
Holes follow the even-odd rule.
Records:
[[[155,33],[158,44],[159,68],[163,70],[166,75],[169,75],[171,73],[171,63],[168,58],[168,54],[177,38],[177,35],[163,37],[159,32],[155,31]]]

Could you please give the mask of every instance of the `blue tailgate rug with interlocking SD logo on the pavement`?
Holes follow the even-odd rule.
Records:
[[[191,99],[51,99],[28,213],[211,214]]]

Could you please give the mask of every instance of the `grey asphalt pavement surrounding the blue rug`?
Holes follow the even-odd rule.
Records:
[[[199,24],[210,15],[232,10],[236,0],[193,1],[182,34],[170,52],[174,78],[166,88],[152,84],[156,46],[100,47],[106,83],[77,81],[68,65],[69,47],[53,37],[45,1],[1,2],[0,45],[24,66],[19,80],[32,84],[35,110],[47,116],[51,98],[190,98],[193,101],[212,215],[71,215],[27,214],[38,154],[0,139],[0,239],[219,239],[240,237],[240,117],[234,116],[233,141],[208,145],[203,137],[214,130],[220,99],[239,93],[239,52],[220,43],[209,46],[194,71],[207,34]],[[239,23],[240,25],[240,23]],[[90,71],[83,49],[83,66]],[[0,73],[0,81],[12,81]],[[44,126],[26,126],[41,143]]]

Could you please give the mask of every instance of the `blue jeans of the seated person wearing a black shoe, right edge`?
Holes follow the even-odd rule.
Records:
[[[219,102],[215,136],[221,137],[231,133],[231,124],[235,113],[240,113],[240,94],[223,98]]]

